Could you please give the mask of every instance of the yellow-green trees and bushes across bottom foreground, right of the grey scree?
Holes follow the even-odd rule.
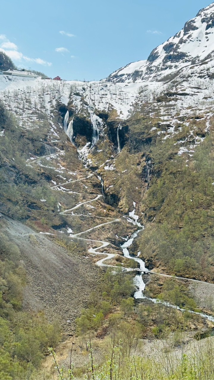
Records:
[[[85,365],[78,366],[77,354],[73,359],[73,342],[70,367],[61,366],[60,356],[50,348],[59,379],[212,379],[214,342],[208,325],[206,340],[197,334],[196,340],[187,345],[188,330],[198,325],[197,331],[201,318],[161,301],[179,306],[185,302],[185,307],[193,311],[196,304],[188,297],[187,287],[166,279],[157,304],[149,299],[136,304],[130,297],[132,289],[129,274],[107,270],[100,290],[102,298],[99,292],[91,293],[89,307],[77,318],[76,347],[80,348],[80,357],[88,355]],[[149,346],[145,337],[149,338]]]

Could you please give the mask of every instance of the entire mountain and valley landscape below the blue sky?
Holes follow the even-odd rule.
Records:
[[[214,3],[103,81],[0,75],[0,378],[73,334],[62,380],[212,378],[213,46]]]

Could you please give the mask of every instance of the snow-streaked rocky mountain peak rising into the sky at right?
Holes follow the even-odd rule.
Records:
[[[147,60],[129,63],[111,74],[107,81],[163,81],[184,68],[212,63],[213,59],[214,3],[201,9],[174,37],[153,49]]]

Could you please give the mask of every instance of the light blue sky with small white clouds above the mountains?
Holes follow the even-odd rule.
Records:
[[[68,80],[99,80],[147,59],[209,4],[211,0],[10,0],[1,5],[0,46],[18,66]]]

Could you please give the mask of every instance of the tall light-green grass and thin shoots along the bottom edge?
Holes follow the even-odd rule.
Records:
[[[180,355],[177,355],[177,347],[180,346]],[[211,338],[205,344],[195,342],[192,345],[192,353],[185,349],[184,334],[174,334],[170,337],[170,331],[163,335],[163,342],[153,348],[153,355],[147,356],[142,347],[142,353],[129,356],[124,354],[120,343],[112,336],[104,347],[105,363],[98,364],[94,353],[96,348],[89,341],[88,363],[85,366],[85,376],[76,376],[77,369],[72,363],[70,369],[60,367],[57,364],[56,353],[50,349],[59,373],[59,379],[81,379],[93,380],[201,380],[213,379],[214,343]]]

